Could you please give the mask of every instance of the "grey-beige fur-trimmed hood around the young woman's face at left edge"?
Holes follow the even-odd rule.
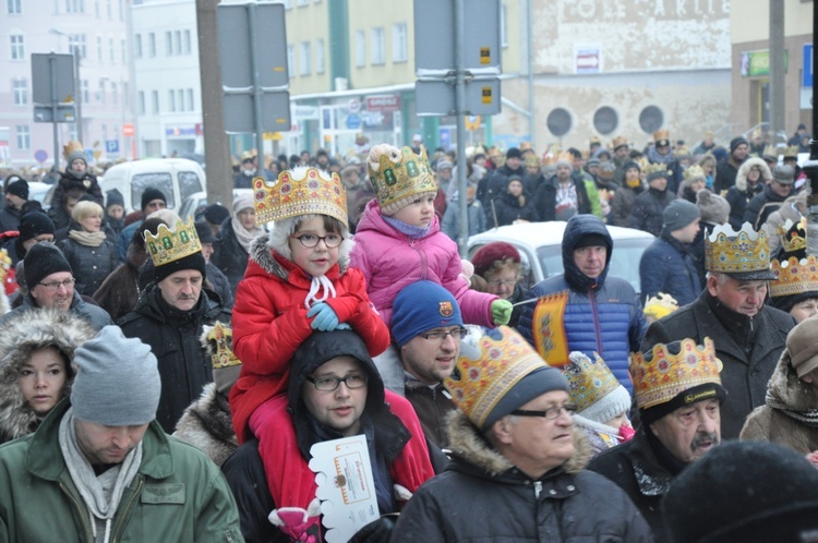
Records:
[[[94,336],[95,329],[84,318],[51,310],[23,312],[0,328],[0,443],[24,436],[39,424],[39,417],[26,403],[17,384],[20,370],[31,353],[55,347],[71,362],[60,395],[64,398],[76,373],[74,351]]]

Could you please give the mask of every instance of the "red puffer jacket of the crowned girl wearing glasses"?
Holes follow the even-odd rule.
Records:
[[[246,439],[253,411],[287,390],[290,359],[313,333],[304,307],[311,278],[267,246],[267,239],[253,240],[246,277],[233,306],[233,352],[242,366],[230,390],[230,410],[239,443]],[[326,303],[338,321],[365,339],[371,355],[381,354],[389,346],[389,330],[370,304],[361,273],[349,268],[347,258],[339,258],[326,277],[336,292]]]

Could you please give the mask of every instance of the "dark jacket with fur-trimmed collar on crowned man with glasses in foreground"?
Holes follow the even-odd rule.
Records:
[[[452,462],[409,500],[392,543],[653,541],[625,492],[582,470],[587,451],[576,433],[574,457],[532,481],[462,413],[453,414],[448,432]]]

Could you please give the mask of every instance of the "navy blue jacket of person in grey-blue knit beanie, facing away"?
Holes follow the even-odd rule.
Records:
[[[688,253],[689,245],[682,243],[662,229],[639,261],[639,283],[642,300],[659,292],[671,294],[678,305],[687,305],[696,300],[703,288]]]

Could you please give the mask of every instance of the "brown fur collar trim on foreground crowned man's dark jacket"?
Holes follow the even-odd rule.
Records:
[[[514,468],[512,462],[491,447],[489,442],[480,435],[477,426],[461,411],[452,411],[446,417],[446,424],[449,436],[448,448],[456,457],[483,470],[490,476],[497,476]],[[578,473],[590,458],[588,441],[582,432],[575,427],[574,456],[563,464],[563,470],[566,473]]]

